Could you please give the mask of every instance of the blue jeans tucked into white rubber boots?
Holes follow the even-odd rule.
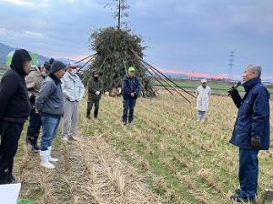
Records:
[[[41,150],[46,151],[47,148],[52,145],[52,141],[56,137],[61,118],[43,116],[41,119],[43,128]]]

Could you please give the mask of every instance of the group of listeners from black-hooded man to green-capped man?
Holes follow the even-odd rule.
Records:
[[[26,143],[31,146],[32,152],[40,153],[40,164],[45,168],[56,168],[58,158],[53,158],[51,152],[62,117],[62,139],[77,138],[79,103],[85,96],[85,87],[76,73],[76,66],[66,66],[53,58],[44,66],[31,66],[31,60],[25,49],[15,50],[10,69],[1,79],[0,184],[15,182],[14,158],[27,119]],[[141,91],[135,74],[136,69],[129,67],[124,79],[124,125],[133,122],[136,98]],[[90,113],[95,105],[94,117],[97,118],[103,84],[96,71],[88,80],[87,92],[86,117],[91,118]],[[38,146],[41,128],[41,144]]]

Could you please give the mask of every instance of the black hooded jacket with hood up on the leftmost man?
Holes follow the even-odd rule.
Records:
[[[24,63],[31,57],[24,49],[16,50],[11,69],[6,71],[0,84],[0,121],[24,123],[30,113],[25,86]]]

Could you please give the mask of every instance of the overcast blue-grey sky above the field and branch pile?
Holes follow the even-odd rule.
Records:
[[[45,56],[80,59],[88,36],[115,26],[106,0],[0,0],[0,42]],[[273,76],[272,0],[131,0],[129,26],[144,36],[146,59],[173,72],[233,74],[258,64]]]

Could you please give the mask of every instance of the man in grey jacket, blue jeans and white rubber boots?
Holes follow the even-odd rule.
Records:
[[[61,78],[65,75],[64,63],[55,61],[51,66],[49,76],[45,78],[39,94],[35,98],[35,107],[41,115],[43,134],[41,139],[41,166],[55,168],[51,161],[52,141],[56,137],[60,119],[64,114],[63,92]]]

